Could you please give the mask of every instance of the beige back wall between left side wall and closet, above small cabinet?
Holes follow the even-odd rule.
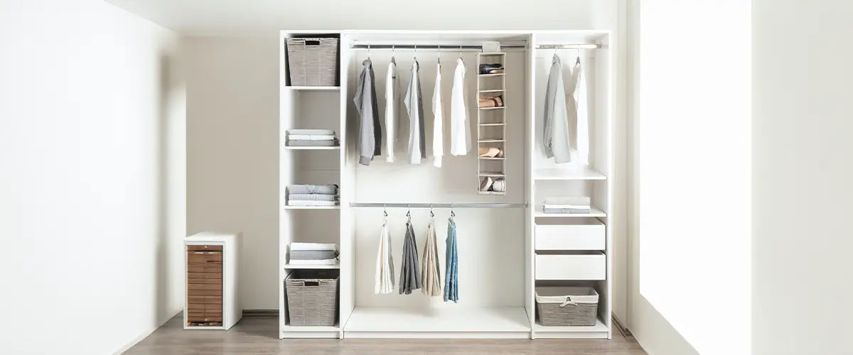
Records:
[[[189,37],[182,44],[187,232],[243,232],[244,309],[278,309],[277,38]]]

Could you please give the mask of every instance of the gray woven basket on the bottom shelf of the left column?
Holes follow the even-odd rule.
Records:
[[[292,326],[332,326],[338,308],[338,270],[296,270],[284,281]]]

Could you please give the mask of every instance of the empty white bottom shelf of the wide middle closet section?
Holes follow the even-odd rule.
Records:
[[[524,307],[368,308],[356,307],[345,338],[530,339]]]

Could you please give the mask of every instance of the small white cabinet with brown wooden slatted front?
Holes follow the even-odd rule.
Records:
[[[237,298],[241,233],[201,232],[184,241],[184,329],[230,329],[242,317]]]

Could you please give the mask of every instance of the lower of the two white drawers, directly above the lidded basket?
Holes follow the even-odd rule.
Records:
[[[604,254],[536,255],[537,280],[605,280]]]

